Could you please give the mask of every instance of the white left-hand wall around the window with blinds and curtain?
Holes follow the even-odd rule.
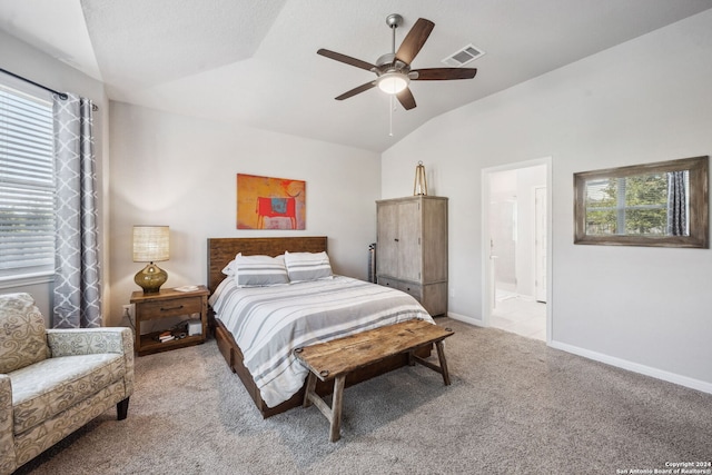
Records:
[[[39,82],[50,89],[62,92],[75,92],[82,97],[91,99],[99,107],[99,111],[93,116],[93,133],[95,133],[95,152],[97,156],[97,175],[99,177],[98,194],[100,212],[98,225],[100,235],[103,238],[103,249],[101,254],[102,274],[105,281],[107,280],[109,268],[106,258],[109,253],[108,234],[108,200],[106,197],[107,188],[103,184],[108,179],[108,110],[109,101],[106,97],[103,83],[95,80],[82,72],[67,66],[66,63],[34,49],[33,47],[0,31],[0,58],[2,63],[0,67],[16,75],[22,76],[34,82]],[[2,73],[0,73],[2,75]],[[4,75],[2,75],[4,76]],[[30,293],[42,311],[47,324],[50,324],[52,310],[52,281],[51,277],[0,281],[0,293]],[[108,287],[103,288],[105,304],[109,296]],[[106,313],[106,305],[105,305]]]

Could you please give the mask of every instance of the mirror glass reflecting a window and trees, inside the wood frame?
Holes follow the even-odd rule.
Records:
[[[690,171],[586,181],[586,234],[689,236]]]

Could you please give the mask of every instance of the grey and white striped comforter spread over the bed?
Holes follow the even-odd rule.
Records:
[[[308,372],[294,348],[398,321],[434,323],[412,296],[343,276],[273,287],[238,287],[227,278],[209,303],[269,407],[304,385]]]

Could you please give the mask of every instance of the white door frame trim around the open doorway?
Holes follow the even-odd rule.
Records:
[[[553,335],[552,315],[554,307],[552,280],[552,157],[543,157],[534,160],[518,161],[515,164],[506,164],[496,167],[483,168],[481,172],[481,189],[482,189],[482,323],[483,326],[491,326],[492,308],[494,304],[494,289],[493,281],[493,266],[492,259],[490,259],[490,175],[516,170],[520,168],[530,168],[538,165],[545,166],[546,175],[546,344],[551,345]]]

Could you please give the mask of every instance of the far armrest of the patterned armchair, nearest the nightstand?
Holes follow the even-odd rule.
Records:
[[[51,357],[121,353],[134,355],[134,334],[129,328],[52,328],[47,330]]]

